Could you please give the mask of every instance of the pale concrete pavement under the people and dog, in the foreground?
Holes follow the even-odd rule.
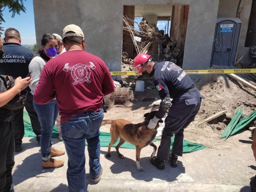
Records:
[[[245,131],[233,136],[233,139],[246,138],[251,132]],[[248,138],[247,137],[247,138]],[[57,138],[52,138],[53,147],[65,150]],[[226,141],[228,142],[228,140]],[[160,142],[156,142],[159,146]],[[23,138],[23,151],[15,153],[13,168],[14,188],[16,192],[24,191],[68,191],[66,179],[67,155],[54,157],[65,160],[58,169],[42,169],[40,147],[35,138]],[[141,151],[140,165],[145,169],[136,169],[135,150],[121,148],[125,156],[120,159],[115,148],[111,148],[111,158],[106,159],[107,148],[101,148],[100,162],[104,169],[101,181],[92,184],[89,166],[86,162],[86,179],[88,191],[226,191],[249,192],[249,183],[255,175],[255,160],[250,141],[241,141],[235,150],[205,148],[184,154],[178,159],[178,167],[172,168],[165,162],[165,169],[160,171],[149,162],[152,147]],[[88,154],[86,159],[88,159]]]

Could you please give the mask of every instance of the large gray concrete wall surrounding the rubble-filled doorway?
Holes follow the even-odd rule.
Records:
[[[66,25],[76,24],[84,31],[86,51],[102,58],[112,71],[121,70],[124,5],[188,4],[183,68],[206,69],[210,66],[219,0],[34,0],[33,2],[37,44],[40,44],[44,33],[62,34],[62,29]]]

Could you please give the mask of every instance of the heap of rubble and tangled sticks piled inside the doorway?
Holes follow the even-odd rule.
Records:
[[[184,50],[178,49],[177,41],[164,34],[164,30],[159,30],[155,23],[148,24],[146,20],[136,21],[125,16],[123,21],[123,31],[132,37],[133,42],[129,43],[134,44],[137,54],[146,53],[157,62],[171,61],[181,66]],[[132,71],[133,57],[123,52],[122,58],[122,71]]]

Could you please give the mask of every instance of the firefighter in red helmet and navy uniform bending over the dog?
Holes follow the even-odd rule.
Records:
[[[139,54],[133,60],[134,72],[145,78],[154,77],[154,84],[162,100],[155,117],[148,123],[155,129],[159,119],[168,112],[157,156],[150,157],[151,164],[164,169],[164,161],[178,166],[178,156],[183,154],[184,129],[195,119],[204,98],[193,80],[179,66],[169,61],[154,62],[150,55]],[[168,111],[169,110],[169,111]],[[170,154],[171,137],[175,134]]]

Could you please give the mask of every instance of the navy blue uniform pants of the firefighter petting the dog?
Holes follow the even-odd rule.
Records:
[[[172,100],[172,106],[164,121],[164,130],[161,143],[157,151],[157,157],[167,161],[170,155],[171,137],[175,135],[172,145],[172,153],[182,156],[184,129],[195,119],[201,106],[201,96],[198,90],[187,92]]]

